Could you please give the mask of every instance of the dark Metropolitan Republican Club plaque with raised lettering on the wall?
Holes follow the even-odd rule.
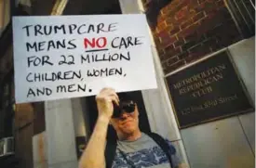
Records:
[[[180,128],[253,111],[227,51],[166,77]]]

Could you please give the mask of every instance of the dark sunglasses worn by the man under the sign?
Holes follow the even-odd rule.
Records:
[[[121,113],[123,111],[128,112],[128,113],[132,113],[135,110],[135,106],[136,104],[133,101],[124,101],[124,102],[120,102],[119,106],[117,106],[114,103],[114,113],[112,118],[119,118],[121,116]]]

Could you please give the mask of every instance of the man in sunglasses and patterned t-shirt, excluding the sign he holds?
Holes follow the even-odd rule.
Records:
[[[168,140],[141,132],[136,102],[128,94],[116,94],[112,88],[103,88],[96,101],[98,120],[79,168],[186,167]],[[109,123],[115,128],[118,140],[107,142],[106,146]]]

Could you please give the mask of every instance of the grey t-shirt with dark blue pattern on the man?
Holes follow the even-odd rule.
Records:
[[[176,150],[167,140],[174,168],[181,163]],[[146,134],[136,141],[117,141],[116,155],[112,168],[169,168],[165,152]]]

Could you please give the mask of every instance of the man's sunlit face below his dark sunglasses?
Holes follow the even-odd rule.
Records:
[[[139,130],[139,111],[135,104],[132,112],[122,110],[119,117],[112,118],[111,124],[115,128],[117,135],[127,136]]]

